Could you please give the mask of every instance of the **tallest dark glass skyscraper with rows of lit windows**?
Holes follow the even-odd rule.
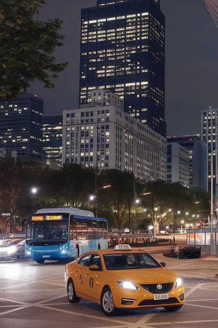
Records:
[[[108,89],[157,133],[165,124],[165,16],[159,0],[99,0],[81,11],[80,105]]]

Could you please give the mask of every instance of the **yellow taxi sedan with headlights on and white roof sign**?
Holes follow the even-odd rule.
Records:
[[[185,301],[183,282],[165,265],[129,245],[87,252],[65,267],[69,302],[89,299],[107,316],[119,308],[178,311]]]

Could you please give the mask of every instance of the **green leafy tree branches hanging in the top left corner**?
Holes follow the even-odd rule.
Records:
[[[63,22],[34,19],[44,4],[44,0],[0,1],[0,97],[12,98],[35,80],[54,88],[52,79],[68,65],[55,63],[53,55],[56,47],[63,46],[64,36],[58,32]]]

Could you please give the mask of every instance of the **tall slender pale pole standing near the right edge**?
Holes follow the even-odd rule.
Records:
[[[215,236],[213,236],[213,113],[210,109],[210,167],[211,167],[211,201],[210,201],[210,255],[215,255]],[[215,114],[214,114],[215,115]]]

